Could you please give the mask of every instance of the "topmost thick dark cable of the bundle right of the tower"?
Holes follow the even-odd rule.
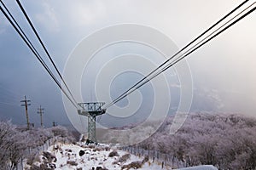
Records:
[[[136,88],[137,85],[139,85],[139,83],[143,82],[144,80],[146,80],[149,76],[151,76],[155,71],[158,71],[160,69],[160,67],[166,65],[171,59],[173,59],[174,57],[177,56],[177,54],[180,54],[181,52],[183,52],[183,50],[185,48],[188,48],[192,43],[194,43],[195,41],[197,41],[198,39],[200,39],[201,37],[203,37],[208,31],[212,30],[213,27],[217,26],[220,22],[222,22],[223,20],[225,20],[227,17],[230,16],[230,14],[233,14],[238,8],[241,8],[241,6],[243,6],[245,3],[247,3],[249,0],[245,0],[244,2],[242,2],[241,4],[239,4],[236,8],[234,8],[233,10],[230,11],[230,13],[224,15],[223,18],[221,18],[220,20],[218,20],[216,23],[214,23],[212,26],[210,26],[209,28],[207,28],[206,31],[203,31],[198,37],[195,37],[194,40],[192,40],[191,42],[189,42],[187,45],[185,45],[182,49],[180,49],[179,51],[177,51],[176,54],[173,54],[169,59],[166,59],[165,62],[163,62],[161,65],[159,65],[157,68],[154,69],[154,71],[151,71],[148,73],[147,76],[143,77],[143,79],[141,79],[140,81],[138,81],[136,84],[134,84],[133,86],[131,86],[131,88],[127,89],[123,94],[120,94],[119,97],[117,97],[116,99],[113,99],[113,101],[111,103],[109,103],[108,105],[106,105],[105,107],[108,108],[111,105],[114,105],[117,101],[119,101],[120,99],[123,99],[123,96],[125,94],[127,94],[129,91],[131,91],[132,88]],[[126,95],[125,95],[126,96]]]

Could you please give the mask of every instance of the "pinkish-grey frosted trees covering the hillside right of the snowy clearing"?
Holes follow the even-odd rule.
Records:
[[[137,146],[172,155],[186,167],[213,165],[218,169],[256,169],[256,120],[239,115],[190,114],[178,132],[167,127],[173,116]]]

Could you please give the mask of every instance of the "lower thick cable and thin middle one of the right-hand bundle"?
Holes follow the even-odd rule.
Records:
[[[254,3],[253,3],[253,4],[254,4]],[[252,7],[253,4],[251,4],[251,5],[248,6],[247,8]],[[247,8],[244,9],[243,11],[241,11],[241,13],[244,12],[245,10],[247,10]],[[172,65],[177,64],[177,62],[179,62],[180,60],[184,59],[184,58],[187,57],[189,54],[192,54],[192,53],[195,52],[195,50],[197,50],[198,48],[201,48],[201,46],[203,46],[203,45],[206,44],[207,42],[211,41],[214,37],[217,37],[217,36],[218,36],[219,34],[221,34],[223,31],[225,31],[225,30],[227,30],[228,28],[230,28],[230,26],[235,25],[236,22],[238,22],[239,20],[242,20],[242,19],[243,19],[244,17],[246,17],[248,14],[251,14],[251,13],[255,10],[255,8],[256,8],[256,7],[252,8],[252,9],[249,10],[246,14],[243,14],[240,18],[238,18],[237,20],[233,21],[229,26],[226,26],[226,27],[224,27],[224,29],[222,29],[221,31],[218,31],[220,28],[222,28],[222,27],[225,26],[227,23],[229,23],[231,20],[234,20],[234,19],[235,19],[238,15],[240,15],[241,13],[236,14],[235,17],[233,17],[231,20],[229,20],[228,22],[226,22],[223,26],[220,26],[220,27],[218,28],[218,30],[216,30],[216,31],[218,31],[218,33],[216,33],[215,35],[213,35],[213,36],[210,37],[209,39],[204,38],[203,40],[201,40],[201,42],[204,41],[205,39],[207,39],[207,41],[202,42],[201,45],[199,45],[199,46],[197,46],[197,47],[195,48],[195,46],[198,45],[200,42],[196,43],[196,45],[193,46],[194,49],[192,49],[191,51],[187,51],[187,52],[186,52],[187,54],[182,55],[180,58],[177,58],[177,59],[176,59],[174,62],[172,62],[171,64],[166,65],[166,67],[164,67],[162,70],[160,70],[159,72],[157,72],[156,74],[154,74],[153,77],[150,77],[150,78],[148,78],[148,76],[147,76],[147,77],[144,77],[140,82],[138,82],[136,85],[132,86],[132,88],[130,88],[128,91],[126,91],[124,94],[122,94],[122,96],[120,96],[119,98],[113,100],[112,103],[110,103],[109,105],[107,105],[107,106],[106,106],[106,109],[107,109],[108,107],[110,107],[111,105],[113,105],[113,104],[119,102],[119,100],[124,99],[127,95],[129,95],[129,94],[131,94],[132,92],[134,92],[137,88],[141,88],[144,84],[146,84],[147,82],[149,82],[150,80],[152,80],[154,77],[157,77],[158,75],[160,75],[160,73],[162,73],[162,72],[166,71],[167,69],[169,69],[170,67],[172,67]],[[232,11],[234,11],[234,10],[232,10]],[[212,34],[213,34],[214,32],[216,32],[216,31],[213,31]],[[212,34],[210,34],[210,35],[212,35]],[[207,37],[209,37],[209,36],[207,36]],[[189,48],[189,50],[190,50],[190,49],[191,49],[191,48]],[[151,76],[151,75],[152,75],[152,73],[150,73],[149,76]],[[144,82],[143,82],[143,81],[144,81]],[[141,83],[141,82],[142,82],[142,83]],[[141,84],[139,84],[139,83],[141,83]]]

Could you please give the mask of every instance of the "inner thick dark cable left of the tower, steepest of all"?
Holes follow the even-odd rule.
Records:
[[[19,0],[16,0],[16,2],[18,3],[18,5],[19,5],[19,7],[20,7],[20,9],[21,9],[21,11],[22,11],[22,13],[25,15],[26,20],[28,21],[29,25],[32,27],[32,31],[34,31],[36,37],[38,38],[38,41],[41,43],[42,47],[44,48],[44,52],[47,54],[47,56],[48,56],[48,58],[49,58],[51,64],[54,65],[55,71],[57,71],[59,77],[61,77],[61,81],[64,83],[65,87],[67,88],[68,93],[72,96],[74,102],[75,102],[75,103],[78,103],[78,102],[76,101],[76,99],[74,99],[73,94],[71,93],[70,89],[67,87],[67,83],[64,81],[63,77],[61,76],[61,72],[58,70],[57,66],[55,65],[54,60],[52,59],[52,57],[50,56],[50,54],[49,54],[47,48],[46,48],[45,45],[44,45],[44,42],[42,41],[41,37],[39,37],[38,31],[37,31],[36,28],[33,26],[32,21],[30,20],[29,16],[26,14],[25,8],[23,8],[23,6],[22,6],[22,4],[20,3]]]

